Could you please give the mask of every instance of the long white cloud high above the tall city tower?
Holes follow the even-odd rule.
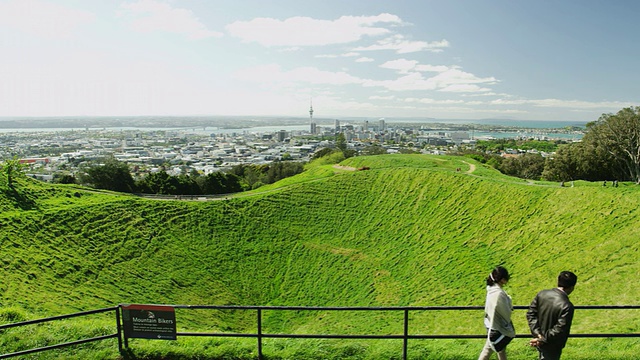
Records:
[[[386,35],[390,31],[376,24],[401,24],[391,14],[377,16],[342,16],[336,20],[292,17],[286,20],[255,18],[227,25],[227,31],[245,42],[263,46],[318,46],[345,44],[365,36]]]

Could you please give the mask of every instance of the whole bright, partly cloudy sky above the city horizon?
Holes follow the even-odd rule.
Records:
[[[0,0],[0,116],[596,120],[640,2]]]

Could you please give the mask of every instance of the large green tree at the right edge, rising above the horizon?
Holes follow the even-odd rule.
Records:
[[[623,180],[640,184],[640,107],[628,107],[603,114],[587,124],[583,141],[610,155]],[[619,174],[614,174],[619,175]]]

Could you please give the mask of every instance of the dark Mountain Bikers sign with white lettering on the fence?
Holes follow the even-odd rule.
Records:
[[[172,306],[122,305],[125,338],[176,340],[176,312]]]

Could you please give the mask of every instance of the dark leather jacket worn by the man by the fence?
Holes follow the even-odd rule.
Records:
[[[562,349],[569,338],[573,320],[573,304],[564,291],[542,290],[529,305],[527,321],[531,334],[542,335],[543,348]]]

